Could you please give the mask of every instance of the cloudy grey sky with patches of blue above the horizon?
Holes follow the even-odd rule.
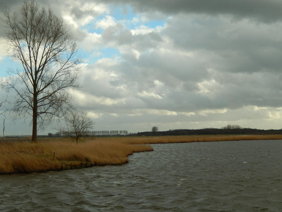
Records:
[[[0,2],[11,11],[22,4]],[[282,128],[282,1],[38,3],[64,19],[84,56],[82,88],[71,94],[93,130]],[[18,66],[4,31],[1,23],[0,77]],[[7,113],[5,135],[31,134],[30,120]],[[38,134],[55,133],[53,125]]]

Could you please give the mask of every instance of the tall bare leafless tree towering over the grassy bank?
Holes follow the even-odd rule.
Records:
[[[44,129],[53,116],[62,117],[72,108],[67,90],[79,87],[81,59],[63,19],[50,7],[24,1],[19,13],[2,12],[9,55],[22,64],[8,71],[2,86],[16,93],[13,117],[32,116],[32,141],[37,142],[37,125]]]

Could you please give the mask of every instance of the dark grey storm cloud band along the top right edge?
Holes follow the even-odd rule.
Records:
[[[282,19],[280,0],[103,0],[101,2],[127,3],[139,12],[227,14],[237,18],[259,19],[263,22]]]

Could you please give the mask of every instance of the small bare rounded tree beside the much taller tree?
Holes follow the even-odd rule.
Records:
[[[87,116],[86,111],[71,111],[65,115],[65,126],[58,127],[58,130],[70,138],[78,139],[86,135],[93,128],[93,121]]]

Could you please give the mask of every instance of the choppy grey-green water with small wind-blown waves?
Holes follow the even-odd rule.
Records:
[[[0,176],[1,211],[282,211],[282,141],[153,144],[123,166]]]

